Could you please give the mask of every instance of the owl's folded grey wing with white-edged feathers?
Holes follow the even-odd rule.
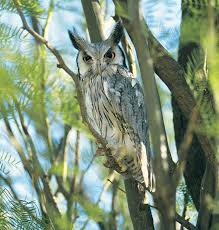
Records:
[[[124,68],[118,68],[117,72],[109,77],[108,84],[108,93],[115,113],[125,124],[130,137],[139,147],[137,154],[141,159],[145,185],[152,191],[154,190],[154,175],[144,94],[141,85]]]

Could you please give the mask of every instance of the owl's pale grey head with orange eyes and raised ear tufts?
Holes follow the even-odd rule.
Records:
[[[77,65],[80,76],[87,73],[101,75],[109,65],[125,66],[125,55],[119,47],[123,36],[123,27],[119,21],[110,36],[102,42],[88,43],[75,30],[68,31],[73,46],[79,51]]]

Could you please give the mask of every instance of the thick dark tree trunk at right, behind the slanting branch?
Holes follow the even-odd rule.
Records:
[[[206,2],[204,5],[201,4],[201,1],[196,1],[196,4],[193,3],[192,1],[187,1],[187,4],[185,4],[185,1],[182,1],[182,24],[178,62],[187,74],[193,93],[196,95],[197,101],[201,102],[200,106],[205,106],[203,112],[214,114],[213,96],[205,72],[203,71],[205,52],[201,47],[201,34],[206,31],[206,27],[203,25],[206,26],[207,23],[208,3]],[[215,21],[217,22],[217,20]],[[198,63],[194,61],[194,55],[198,56]],[[188,119],[183,116],[174,97],[172,97],[172,106],[176,146],[179,149],[188,125]],[[211,142],[215,143],[213,139],[211,139]],[[199,211],[197,228],[201,230],[210,229],[212,223],[212,211],[208,209],[206,196],[210,195],[212,198],[215,196],[215,172],[216,167],[208,162],[204,149],[201,147],[197,136],[194,135],[189,148],[184,177],[194,205]]]

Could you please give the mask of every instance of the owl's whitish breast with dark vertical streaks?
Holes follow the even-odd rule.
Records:
[[[96,77],[84,87],[85,105],[90,123],[108,143],[121,142],[124,127],[108,95],[108,84]]]

